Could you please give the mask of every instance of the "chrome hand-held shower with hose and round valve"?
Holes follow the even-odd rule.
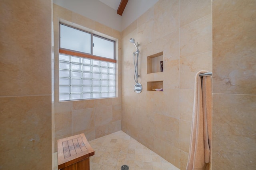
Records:
[[[135,67],[135,72],[134,72],[134,81],[136,82],[136,84],[134,85],[134,92],[136,93],[140,93],[142,91],[142,85],[140,83],[138,83],[138,58],[139,58],[139,54],[140,54],[140,50],[138,49],[138,42],[137,44],[135,43],[135,39],[131,38],[130,42],[134,44],[136,51],[133,53],[133,62],[134,62],[134,67]]]

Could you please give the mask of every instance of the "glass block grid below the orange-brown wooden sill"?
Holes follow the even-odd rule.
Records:
[[[59,100],[116,96],[116,63],[59,55]]]

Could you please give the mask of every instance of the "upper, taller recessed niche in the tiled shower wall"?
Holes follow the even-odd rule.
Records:
[[[156,53],[147,57],[147,73],[161,72],[160,61],[164,61],[164,53]],[[163,68],[163,67],[162,67]]]

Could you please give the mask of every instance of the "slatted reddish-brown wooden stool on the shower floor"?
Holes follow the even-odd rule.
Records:
[[[58,169],[90,170],[89,157],[94,155],[94,150],[83,133],[59,139],[57,146]]]

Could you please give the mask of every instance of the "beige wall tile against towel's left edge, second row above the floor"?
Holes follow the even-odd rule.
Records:
[[[180,150],[189,152],[191,122],[180,120]]]

